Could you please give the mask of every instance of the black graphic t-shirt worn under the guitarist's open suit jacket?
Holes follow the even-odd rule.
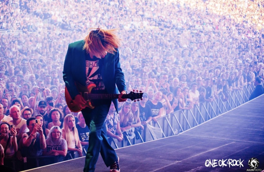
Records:
[[[86,86],[95,83],[96,87],[93,90],[105,90],[105,85],[103,84],[102,76],[101,76],[101,68],[100,68],[101,60],[95,59],[86,60]]]

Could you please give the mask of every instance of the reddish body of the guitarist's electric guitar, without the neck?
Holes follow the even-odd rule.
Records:
[[[90,94],[92,89],[94,87],[96,87],[95,84],[90,84],[87,87],[82,86],[79,83],[75,83],[77,90],[81,93],[82,97],[84,97],[84,93],[86,94]],[[72,97],[70,97],[70,94],[67,90],[67,87],[65,87],[65,100],[67,103],[68,108],[72,111],[72,112],[79,112],[82,110],[82,108],[79,108],[79,106],[75,103],[75,101],[72,100]],[[86,104],[84,106],[87,106],[88,108],[94,109],[95,107],[92,105],[92,101],[91,100],[87,100]]]

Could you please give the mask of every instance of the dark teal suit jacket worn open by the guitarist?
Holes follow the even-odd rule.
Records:
[[[83,50],[83,45],[84,40],[70,43],[64,61],[63,80],[73,100],[74,97],[79,94],[74,82],[79,82],[81,85],[85,86],[86,81],[86,50]],[[118,90],[119,92],[126,90],[124,73],[120,68],[118,49],[116,49],[115,54],[107,53],[107,55],[102,58],[102,63],[101,76],[107,93],[117,94]],[[112,101],[117,109],[117,99],[113,99]]]

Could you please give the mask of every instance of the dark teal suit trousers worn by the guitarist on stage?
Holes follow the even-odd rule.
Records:
[[[89,146],[85,158],[84,172],[95,171],[95,165],[99,153],[105,165],[108,167],[117,160],[115,150],[109,144],[106,136],[105,119],[110,108],[111,100],[105,104],[96,106],[94,109],[85,108],[82,110],[85,123],[88,125]]]

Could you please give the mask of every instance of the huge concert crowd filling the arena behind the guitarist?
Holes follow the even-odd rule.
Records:
[[[84,39],[90,27],[119,29],[127,91],[144,92],[139,102],[110,107],[107,134],[120,142],[166,114],[204,101],[225,101],[228,92],[263,82],[263,5],[0,1],[0,143],[5,157],[51,155],[62,161],[85,155],[89,128],[82,114],[66,105],[62,66],[68,44]]]

